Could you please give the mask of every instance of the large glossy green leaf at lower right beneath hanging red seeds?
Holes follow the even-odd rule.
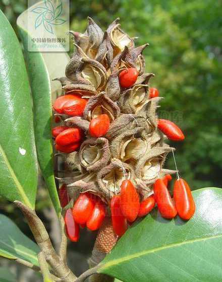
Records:
[[[194,217],[163,219],[155,208],[102,261],[100,273],[125,282],[217,282],[222,279],[222,189],[193,192]]]

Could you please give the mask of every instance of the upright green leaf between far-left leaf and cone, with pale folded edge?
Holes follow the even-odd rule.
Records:
[[[31,7],[30,9],[32,9]],[[51,201],[60,216],[61,206],[54,181],[51,119],[52,119],[52,98],[58,90],[61,91],[61,84],[52,81],[53,78],[63,77],[69,56],[66,52],[28,52],[27,38],[27,11],[17,20],[21,39],[23,41],[30,84],[33,96],[35,113],[35,142],[37,156],[42,175],[45,179]]]

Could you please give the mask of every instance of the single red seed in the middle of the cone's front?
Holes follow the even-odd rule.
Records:
[[[89,123],[89,133],[92,137],[101,137],[108,131],[110,125],[107,114],[93,118]]]

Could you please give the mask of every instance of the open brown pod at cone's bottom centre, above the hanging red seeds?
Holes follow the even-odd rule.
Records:
[[[114,158],[111,159],[109,165],[103,167],[97,173],[96,179],[100,192],[105,195],[106,200],[109,201],[115,194],[120,192],[120,186],[123,180],[130,179],[135,183],[135,173],[129,164]]]

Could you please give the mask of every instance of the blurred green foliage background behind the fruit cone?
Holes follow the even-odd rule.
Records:
[[[24,0],[0,0],[0,9],[16,32],[16,19],[26,7]],[[87,16],[103,29],[120,17],[122,29],[131,37],[138,36],[137,45],[150,44],[144,56],[146,71],[155,74],[151,87],[158,88],[164,97],[159,115],[175,121],[186,135],[183,143],[171,144],[177,148],[181,176],[192,189],[222,187],[222,2],[71,0],[70,9],[71,30],[84,32]],[[166,167],[175,168],[172,155],[168,156]],[[2,203],[4,212],[11,213],[13,206]],[[47,193],[42,189],[37,205],[41,215],[48,204]],[[20,218],[15,221],[27,234]],[[87,256],[94,236],[84,233],[83,237],[88,244],[82,247],[81,239],[75,251]],[[84,265],[83,268],[86,262]]]

